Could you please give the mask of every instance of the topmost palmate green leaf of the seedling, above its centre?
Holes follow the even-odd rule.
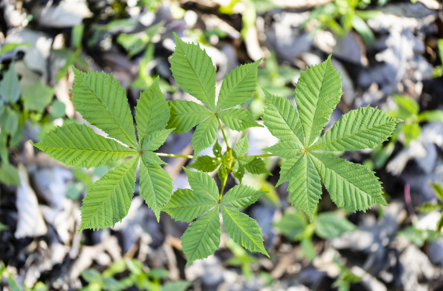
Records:
[[[257,67],[261,59],[241,65],[229,73],[221,85],[215,105],[215,67],[211,58],[199,45],[183,42],[175,34],[175,51],[171,71],[177,84],[208,108],[193,101],[171,101],[171,119],[167,128],[183,133],[198,125],[193,137],[194,157],[215,142],[219,120],[232,130],[261,126],[243,109],[231,108],[253,96],[257,81]]]

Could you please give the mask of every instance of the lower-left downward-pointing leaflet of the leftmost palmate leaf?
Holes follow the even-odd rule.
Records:
[[[138,157],[132,157],[96,181],[83,199],[82,223],[78,232],[105,229],[128,214],[134,195]]]

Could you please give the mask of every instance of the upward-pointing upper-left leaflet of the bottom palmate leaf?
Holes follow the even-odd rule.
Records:
[[[188,176],[189,185],[195,194],[202,196],[202,198],[218,201],[219,193],[214,179],[204,172],[190,171],[185,167],[183,169]]]

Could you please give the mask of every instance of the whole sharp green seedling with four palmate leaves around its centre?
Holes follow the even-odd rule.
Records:
[[[342,93],[341,79],[330,59],[302,73],[295,90],[300,116],[289,100],[265,91],[268,108],[263,119],[271,133],[283,141],[267,149],[273,154],[245,156],[249,148],[247,136],[231,147],[222,123],[238,131],[261,126],[249,111],[233,108],[253,96],[260,60],[233,69],[223,80],[216,102],[215,67],[210,57],[200,46],[183,42],[177,35],[175,41],[171,58],[173,76],[185,92],[206,106],[185,100],[168,103],[157,78],[137,101],[137,140],[124,89],[113,76],[74,69],[72,101],[76,110],[89,123],[104,130],[109,138],[95,134],[84,124],[72,123],[58,127],[35,145],[74,167],[98,167],[133,156],[90,186],[81,207],[79,231],[106,228],[128,213],[139,161],[140,195],[157,219],[162,209],[177,220],[193,222],[197,218],[182,236],[187,265],[218,249],[219,211],[226,232],[234,242],[268,255],[257,222],[235,210],[249,206],[265,192],[240,184],[225,193],[229,172],[240,181],[245,171],[270,174],[260,157],[276,154],[287,159],[279,184],[290,181],[293,204],[306,211],[311,219],[321,194],[321,178],[338,206],[356,211],[374,203],[385,204],[380,182],[373,172],[323,152],[373,147],[390,136],[398,119],[374,108],[360,108],[344,115],[315,142]],[[172,131],[182,133],[194,126],[197,126],[192,137],[194,156],[154,153]],[[216,142],[218,130],[226,143],[225,152]],[[215,157],[197,156],[213,144]],[[166,163],[159,156],[193,158],[194,164],[190,167],[200,171],[184,168],[192,189],[178,189],[172,194],[172,180],[161,168],[160,165]],[[217,167],[220,190],[215,180],[205,173]]]

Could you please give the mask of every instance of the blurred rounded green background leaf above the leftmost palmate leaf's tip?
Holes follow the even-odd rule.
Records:
[[[42,113],[51,103],[54,96],[54,89],[43,84],[41,80],[26,87],[23,90],[23,105],[27,110]]]

